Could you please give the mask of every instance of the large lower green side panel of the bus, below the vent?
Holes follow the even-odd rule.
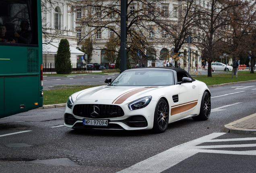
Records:
[[[38,76],[4,78],[4,117],[39,107]]]

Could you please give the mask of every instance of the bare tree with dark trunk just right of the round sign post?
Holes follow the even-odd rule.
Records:
[[[234,4],[227,0],[209,0],[207,8],[196,8],[197,27],[196,44],[202,48],[203,58],[208,61],[208,77],[212,76],[211,62],[218,56],[221,48],[221,40],[229,25],[228,11]],[[225,39],[225,38],[224,38]]]

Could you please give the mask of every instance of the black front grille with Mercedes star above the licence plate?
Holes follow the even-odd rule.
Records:
[[[96,106],[99,108],[97,117],[91,115],[93,112],[92,107]],[[95,110],[96,111],[96,110]],[[73,114],[79,117],[93,118],[93,119],[105,119],[105,118],[116,118],[124,116],[124,111],[120,106],[117,105],[97,105],[97,104],[86,104],[86,105],[75,105]]]

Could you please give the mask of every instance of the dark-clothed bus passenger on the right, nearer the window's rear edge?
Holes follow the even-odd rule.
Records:
[[[29,22],[26,20],[23,20],[20,26],[21,26],[21,31],[14,32],[14,36],[18,38],[17,43],[31,44],[32,32],[29,30]]]

